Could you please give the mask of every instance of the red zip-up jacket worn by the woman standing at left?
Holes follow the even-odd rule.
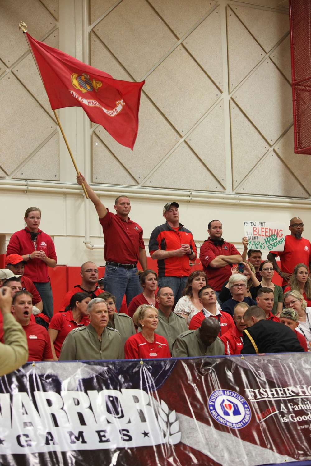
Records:
[[[44,251],[49,259],[57,261],[54,243],[52,238],[47,233],[43,233],[38,228],[37,236],[37,249],[35,244],[31,240],[30,232],[27,228],[13,233],[10,238],[9,244],[7,245],[7,256],[9,254],[31,254],[35,250]],[[48,266],[41,259],[31,259],[25,264],[25,277],[30,278],[32,281],[39,283],[47,283],[48,278]]]

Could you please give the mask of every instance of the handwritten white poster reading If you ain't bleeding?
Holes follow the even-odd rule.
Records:
[[[249,249],[260,251],[283,251],[285,223],[244,222],[244,235],[249,240]]]

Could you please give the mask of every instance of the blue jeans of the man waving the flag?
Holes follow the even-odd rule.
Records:
[[[104,290],[116,296],[117,312],[119,312],[124,295],[126,297],[126,304],[129,305],[131,300],[143,291],[136,274],[137,267],[127,269],[114,265],[106,265]]]

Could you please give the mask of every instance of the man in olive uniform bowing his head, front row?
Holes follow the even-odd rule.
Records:
[[[176,338],[172,357],[223,356],[225,345],[218,334],[218,320],[206,317],[198,329],[188,330]]]

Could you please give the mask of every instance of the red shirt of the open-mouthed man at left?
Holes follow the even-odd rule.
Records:
[[[51,340],[48,331],[34,322],[23,326],[27,336],[29,357],[28,361],[42,361],[42,359],[53,359]]]

